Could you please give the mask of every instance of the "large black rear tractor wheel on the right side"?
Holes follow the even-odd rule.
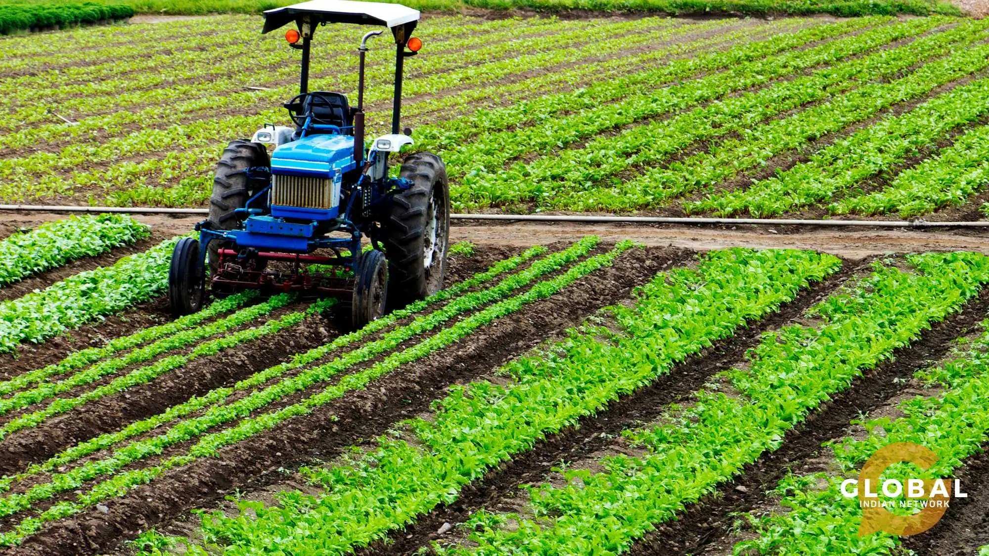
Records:
[[[450,238],[450,189],[443,160],[417,152],[405,159],[399,176],[412,185],[392,197],[382,219],[390,311],[443,287]]]

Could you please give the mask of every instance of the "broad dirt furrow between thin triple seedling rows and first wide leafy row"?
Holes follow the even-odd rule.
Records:
[[[107,513],[86,511],[45,529],[3,554],[93,554],[103,552],[178,512],[208,506],[230,489],[277,481],[279,467],[317,455],[329,459],[360,438],[382,433],[398,419],[424,411],[453,382],[471,380],[560,328],[577,324],[596,309],[629,295],[655,269],[686,253],[653,248],[627,252],[613,267],[579,280],[560,294],[526,306],[438,351],[346,396],[197,460],[122,499],[107,501]]]

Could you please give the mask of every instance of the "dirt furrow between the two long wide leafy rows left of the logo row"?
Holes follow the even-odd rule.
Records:
[[[532,450],[513,457],[487,473],[481,481],[465,488],[455,503],[431,511],[404,530],[390,535],[387,541],[376,543],[361,553],[413,554],[430,541],[440,538],[437,531],[443,523],[462,523],[482,508],[497,510],[499,501],[517,493],[521,485],[541,482],[561,461],[578,461],[606,448],[624,428],[651,420],[669,404],[689,397],[712,375],[741,360],[746,350],[759,343],[764,330],[799,317],[864,265],[864,262],[845,261],[842,270],[802,291],[779,312],[715,342],[702,353],[676,365],[670,373],[657,378],[648,387],[611,403],[595,416],[584,417],[576,426],[540,441]]]

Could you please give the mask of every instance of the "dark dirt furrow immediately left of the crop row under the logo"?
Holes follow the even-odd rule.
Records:
[[[675,521],[663,523],[639,541],[631,554],[696,554],[729,532],[733,514],[755,510],[764,493],[788,470],[817,456],[821,443],[839,436],[860,414],[881,407],[897,396],[910,377],[931,361],[944,357],[951,340],[980,323],[989,311],[989,290],[969,300],[962,311],[934,324],[913,344],[897,349],[890,361],[854,380],[852,385],[823,404],[817,413],[790,430],[775,452],[747,465],[739,476],[691,505]]]

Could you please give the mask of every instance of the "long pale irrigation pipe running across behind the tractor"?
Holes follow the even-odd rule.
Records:
[[[57,205],[0,205],[0,211],[30,211],[40,213],[127,213],[132,215],[206,215],[207,209],[161,209],[152,207],[80,207]],[[593,215],[450,215],[452,220],[511,221],[511,222],[569,222],[583,224],[683,224],[716,226],[823,226],[875,228],[989,228],[989,221],[927,222],[872,220],[803,220],[803,219],[715,219],[675,217],[617,217]]]

